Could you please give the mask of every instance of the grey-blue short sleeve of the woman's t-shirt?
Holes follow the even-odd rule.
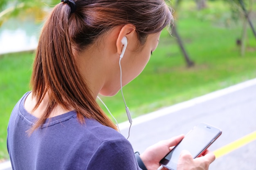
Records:
[[[141,170],[126,139],[104,141],[85,170]]]

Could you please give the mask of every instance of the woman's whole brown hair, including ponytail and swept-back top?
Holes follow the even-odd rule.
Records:
[[[38,108],[49,93],[47,109],[31,128],[40,127],[56,105],[74,108],[80,122],[93,118],[117,129],[103,113],[74,61],[74,53],[83,51],[115,26],[133,24],[141,45],[149,34],[162,31],[172,21],[164,0],[74,0],[76,11],[69,4],[54,7],[43,26],[31,77],[33,97]]]

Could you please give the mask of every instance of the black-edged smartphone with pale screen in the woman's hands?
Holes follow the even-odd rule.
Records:
[[[177,162],[182,150],[188,150],[193,156],[193,159],[195,159],[200,156],[221,133],[222,130],[209,124],[198,124],[160,161],[160,164],[169,170],[177,170]]]

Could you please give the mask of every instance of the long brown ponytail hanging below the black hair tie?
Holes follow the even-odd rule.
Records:
[[[81,123],[85,121],[84,118],[93,118],[117,130],[92,97],[75,64],[68,25],[74,13],[70,14],[67,8],[64,3],[56,5],[39,38],[31,77],[32,94],[36,99],[34,110],[46,93],[49,95],[49,103],[31,131],[40,127],[57,105],[66,110],[74,109]]]

